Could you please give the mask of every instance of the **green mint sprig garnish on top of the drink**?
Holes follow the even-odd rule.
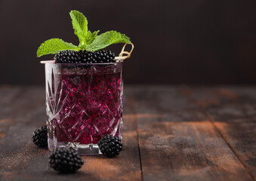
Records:
[[[40,45],[37,51],[38,57],[46,54],[57,54],[60,51],[66,50],[98,51],[108,47],[110,44],[131,43],[130,38],[120,32],[109,31],[100,35],[97,35],[100,31],[91,33],[91,31],[88,31],[88,21],[82,13],[79,11],[70,11],[69,14],[72,19],[72,27],[75,29],[75,34],[79,38],[79,46],[66,43],[59,38],[52,38]]]

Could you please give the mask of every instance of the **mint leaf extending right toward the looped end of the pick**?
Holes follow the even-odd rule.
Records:
[[[121,34],[120,32],[116,31],[109,31],[97,35],[91,44],[85,46],[85,50],[97,51],[108,47],[110,44],[116,43],[131,43],[131,41],[130,38],[128,38],[125,34]]]

